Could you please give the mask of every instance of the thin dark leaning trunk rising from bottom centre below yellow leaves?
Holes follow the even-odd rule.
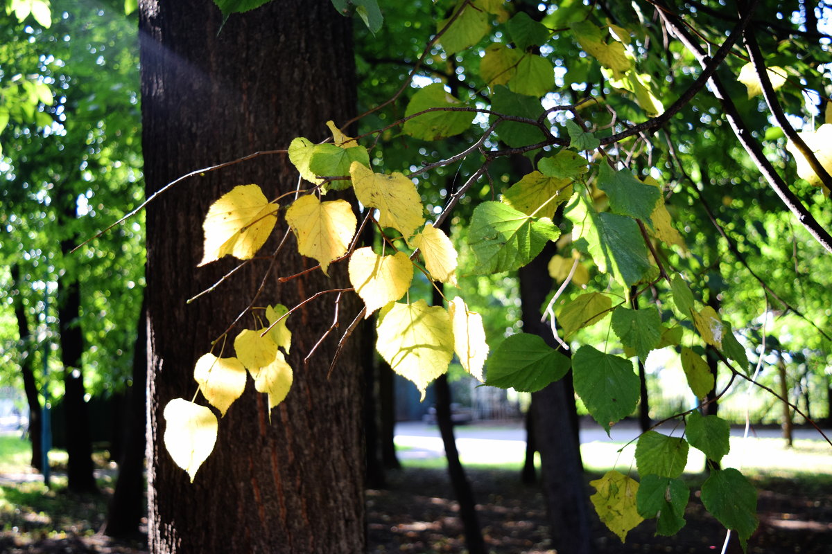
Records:
[[[436,422],[439,425],[439,434],[442,435],[445,456],[448,458],[448,477],[459,503],[459,519],[462,520],[465,530],[465,547],[468,548],[469,554],[485,554],[488,549],[483,540],[483,531],[479,527],[477,503],[474,501],[473,489],[465,475],[463,464],[459,462],[457,443],[453,436],[451,388],[448,386],[447,373],[439,375],[438,379],[433,381],[433,392],[436,394]]]

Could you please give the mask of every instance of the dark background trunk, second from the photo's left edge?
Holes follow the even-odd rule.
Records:
[[[62,199],[65,218],[75,217],[75,198]],[[75,246],[74,240],[61,242],[65,256]],[[65,274],[57,286],[57,317],[61,331],[61,362],[63,365],[63,406],[67,420],[67,487],[73,493],[94,493],[98,487],[93,474],[92,439],[87,402],[84,400],[82,353],[84,335],[81,328],[81,292],[73,275]]]

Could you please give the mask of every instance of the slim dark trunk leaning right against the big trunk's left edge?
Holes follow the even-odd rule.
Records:
[[[147,389],[147,310],[141,302],[133,350],[133,384],[126,392],[126,424],[120,433],[121,456],[118,479],[102,530],[110,537],[135,537],[141,518],[147,515],[145,504],[145,427]]]

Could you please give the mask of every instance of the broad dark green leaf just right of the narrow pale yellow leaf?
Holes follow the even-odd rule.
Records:
[[[488,360],[485,384],[501,389],[535,392],[567,374],[571,360],[540,336],[509,336]]]

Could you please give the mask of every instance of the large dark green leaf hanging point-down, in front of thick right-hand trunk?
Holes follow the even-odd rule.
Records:
[[[572,356],[572,375],[575,392],[607,434],[636,409],[639,380],[630,360],[585,345]]]

